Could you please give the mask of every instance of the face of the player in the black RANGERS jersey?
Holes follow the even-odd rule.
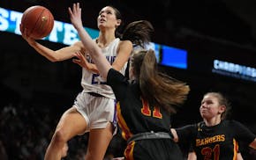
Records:
[[[201,101],[200,114],[204,119],[213,119],[219,117],[221,119],[222,105],[219,104],[218,98],[211,94],[207,94]]]

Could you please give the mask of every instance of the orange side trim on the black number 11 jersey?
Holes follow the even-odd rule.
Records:
[[[119,127],[121,127],[121,129],[122,129],[122,136],[123,136],[124,140],[127,141],[132,136],[132,133],[131,133],[129,127],[127,127],[127,124],[126,124],[124,117],[121,113],[120,102],[117,102],[117,120],[118,120]]]

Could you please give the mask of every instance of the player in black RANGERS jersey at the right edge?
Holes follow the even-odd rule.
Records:
[[[176,142],[191,144],[189,160],[237,160],[239,142],[256,149],[256,136],[237,120],[226,120],[230,102],[220,92],[207,92],[201,100],[203,121],[171,128]]]

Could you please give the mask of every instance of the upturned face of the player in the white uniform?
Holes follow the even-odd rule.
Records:
[[[99,12],[98,16],[98,27],[103,28],[117,28],[120,25],[121,20],[117,19],[116,12],[112,7],[104,7],[102,11]]]

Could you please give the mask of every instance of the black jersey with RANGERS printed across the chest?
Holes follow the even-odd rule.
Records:
[[[222,120],[214,127],[204,122],[177,128],[179,141],[189,141],[197,159],[237,159],[238,142],[251,143],[255,135],[236,120]]]

